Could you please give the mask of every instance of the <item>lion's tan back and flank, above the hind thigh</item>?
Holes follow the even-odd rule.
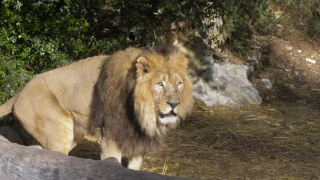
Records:
[[[66,110],[88,115],[94,85],[107,57],[90,57],[38,74],[25,85],[19,96],[25,99],[51,93]]]

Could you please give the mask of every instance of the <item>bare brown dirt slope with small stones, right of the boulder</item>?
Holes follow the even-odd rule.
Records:
[[[278,100],[300,104],[320,104],[320,44],[292,25],[278,28],[278,35],[257,37],[262,57],[252,74],[252,82],[264,102]],[[310,63],[306,59],[314,60]],[[266,89],[261,79],[271,80]]]

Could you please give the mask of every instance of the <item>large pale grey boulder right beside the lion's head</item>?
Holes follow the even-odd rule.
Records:
[[[261,104],[261,97],[248,80],[248,65],[206,63],[194,82],[194,98],[206,106]],[[194,78],[193,78],[194,79]]]

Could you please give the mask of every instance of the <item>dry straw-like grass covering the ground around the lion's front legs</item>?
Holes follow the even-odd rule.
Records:
[[[320,110],[307,105],[196,104],[163,150],[146,155],[143,170],[199,179],[320,179],[319,125]],[[86,141],[72,153],[97,159],[98,151]]]

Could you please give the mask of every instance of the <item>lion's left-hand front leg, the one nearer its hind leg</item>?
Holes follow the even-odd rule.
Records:
[[[118,145],[114,140],[103,137],[100,143],[101,147],[101,160],[107,157],[116,157],[121,164],[122,151],[118,148]]]

